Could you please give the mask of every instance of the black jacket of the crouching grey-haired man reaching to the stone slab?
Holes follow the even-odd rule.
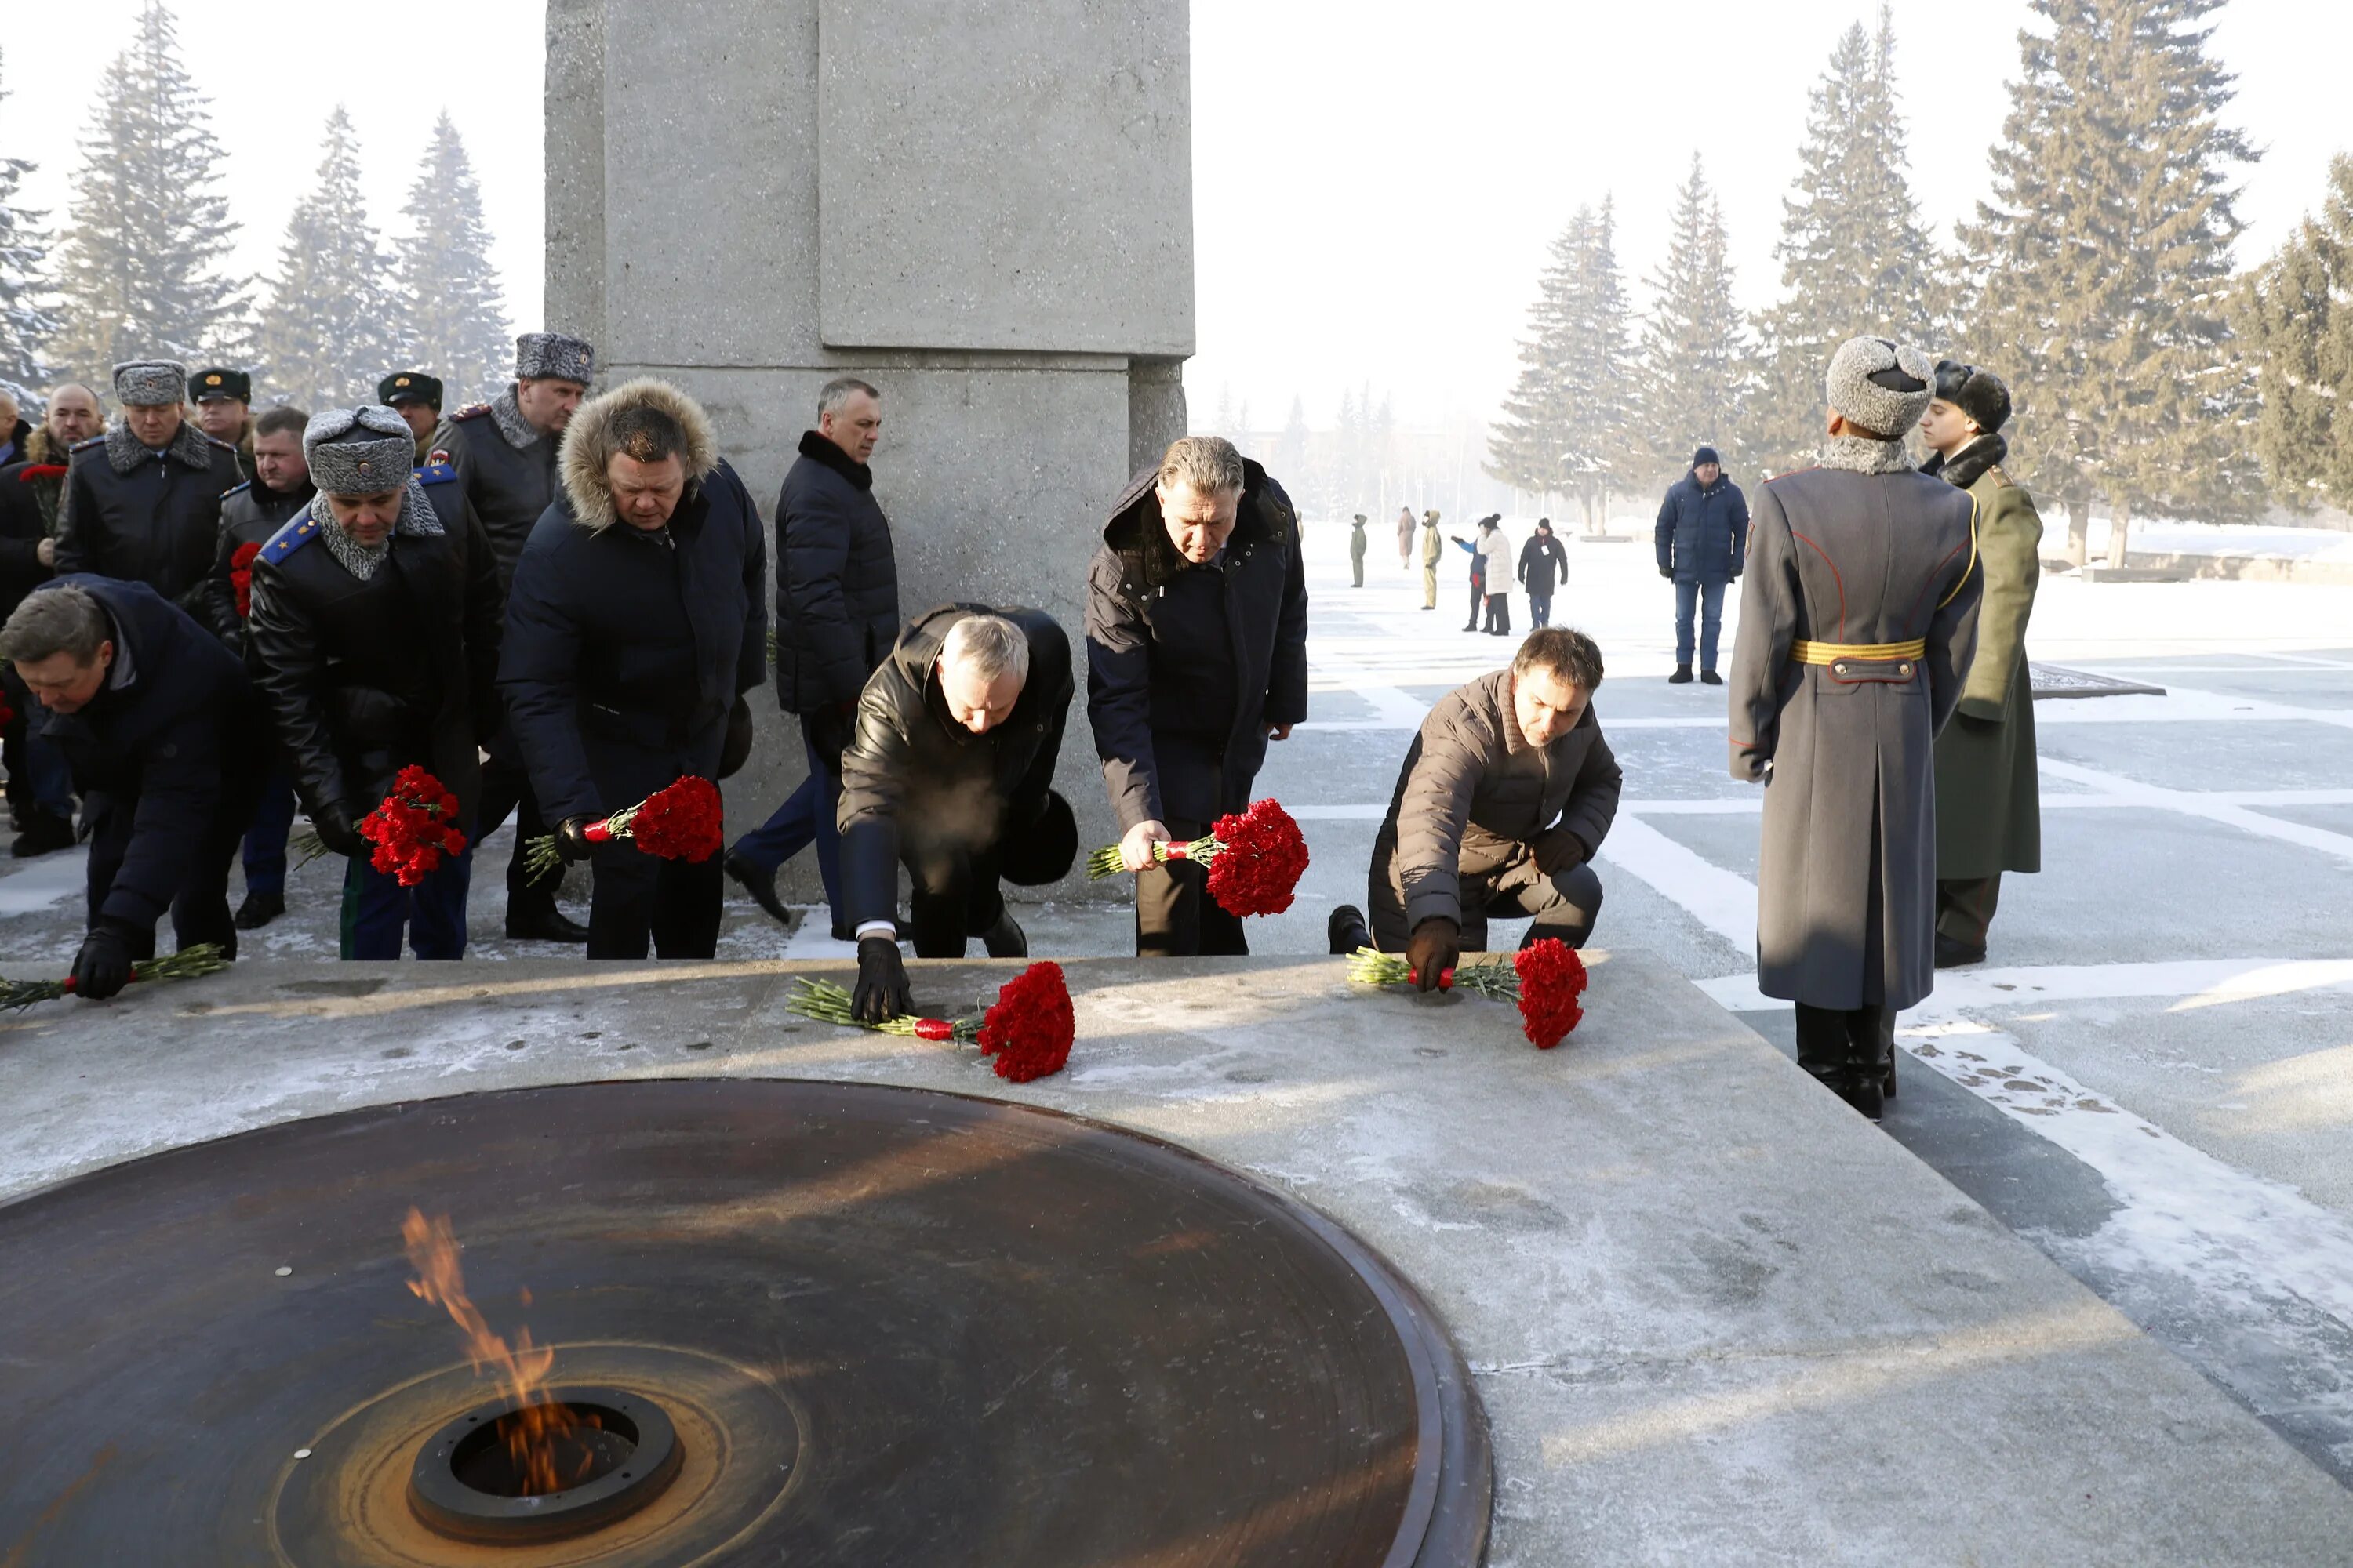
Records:
[[[1028,637],[1028,682],[986,736],[951,719],[939,696],[939,646],[965,616],[1005,616]],[[984,851],[1045,813],[1071,696],[1071,637],[1042,609],[941,604],[899,632],[866,679],[842,752],[838,825],[852,926],[892,917],[901,853]]]

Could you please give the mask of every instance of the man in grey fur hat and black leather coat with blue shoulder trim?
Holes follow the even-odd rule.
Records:
[[[259,451],[259,447],[256,447]],[[466,957],[480,745],[499,729],[499,569],[456,475],[409,473],[416,437],[386,407],[304,430],[318,496],[254,562],[254,684],[320,842],[348,856],[344,957]],[[421,766],[456,795],[466,849],[416,886],[379,872],[358,823]]]

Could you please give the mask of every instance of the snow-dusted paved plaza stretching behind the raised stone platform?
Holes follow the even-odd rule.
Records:
[[[1664,954],[1788,1048],[1788,1011],[1751,978],[1758,795],[1727,776],[1722,693],[1664,682],[1673,597],[1647,527],[1617,529],[1633,538],[1565,534],[1555,599],[1609,661],[1598,710],[1628,773],[1598,940]],[[1362,590],[1344,527],[1311,524],[1308,550],[1311,719],[1261,792],[1304,820],[1315,863],[1289,914],[1254,922],[1259,952],[1322,950],[1325,912],[1362,900],[1421,712],[1513,646],[1457,630],[1459,555],[1426,614],[1419,571],[1379,538]],[[2167,696],[2040,705],[2045,872],[2007,882],[1988,964],[1906,1018],[1915,1063],[1887,1131],[2353,1481],[2353,588],[2052,578],[2031,646]],[[515,952],[496,931],[504,844],[475,898],[482,959]],[[1038,952],[1132,950],[1122,907],[1021,919]],[[0,875],[12,973],[61,966],[78,926],[78,853]],[[261,947],[334,952],[325,863]],[[720,952],[847,947],[736,898]]]

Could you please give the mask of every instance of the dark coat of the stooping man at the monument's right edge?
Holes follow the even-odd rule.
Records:
[[[1113,503],[1087,571],[1087,719],[1122,830],[1247,809],[1266,729],[1308,712],[1299,515],[1264,468],[1245,458],[1242,477],[1219,562],[1193,567],[1169,543],[1151,468]]]

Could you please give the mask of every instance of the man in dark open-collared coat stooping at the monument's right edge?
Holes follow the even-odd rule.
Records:
[[[1308,712],[1299,515],[1264,468],[1188,435],[1113,503],[1087,571],[1087,719],[1136,872],[1136,957],[1249,952],[1191,860]]]

